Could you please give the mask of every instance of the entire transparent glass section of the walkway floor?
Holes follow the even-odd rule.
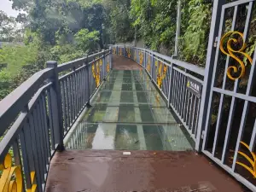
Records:
[[[143,70],[113,70],[90,105],[68,133],[67,149],[193,149]]]

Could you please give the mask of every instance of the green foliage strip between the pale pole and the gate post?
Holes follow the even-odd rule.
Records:
[[[210,25],[211,3],[183,0],[181,59],[202,67],[205,65]]]

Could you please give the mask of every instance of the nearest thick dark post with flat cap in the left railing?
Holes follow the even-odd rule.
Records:
[[[64,150],[63,144],[63,119],[62,119],[62,110],[61,110],[61,87],[59,84],[59,75],[57,72],[57,62],[56,61],[47,61],[46,67],[54,68],[54,74],[51,78],[52,89],[50,89],[50,100],[51,105],[50,110],[52,110],[52,119],[53,119],[53,128],[55,132],[55,145],[57,145],[58,151]]]

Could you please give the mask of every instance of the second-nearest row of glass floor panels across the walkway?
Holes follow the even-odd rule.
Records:
[[[148,104],[138,104],[137,106],[133,104],[119,104],[119,106],[110,106],[107,103],[96,104],[84,113],[83,119],[89,123],[176,123],[168,108],[155,108]]]

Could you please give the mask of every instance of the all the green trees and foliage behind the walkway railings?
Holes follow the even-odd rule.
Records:
[[[172,55],[177,25],[175,0],[10,0],[17,18],[0,12],[0,83],[9,90],[45,67],[47,60],[71,61],[106,44],[143,39],[149,49]],[[211,1],[181,0],[179,59],[203,67],[212,11]],[[255,5],[246,52],[255,48]],[[243,15],[245,10],[239,9]],[[21,28],[17,29],[17,23]],[[231,25],[227,16],[226,26]],[[242,23],[242,22],[239,22]],[[228,30],[228,29],[227,29]],[[239,29],[240,30],[240,29]],[[15,42],[22,42],[15,44]],[[7,67],[6,67],[7,64]]]

